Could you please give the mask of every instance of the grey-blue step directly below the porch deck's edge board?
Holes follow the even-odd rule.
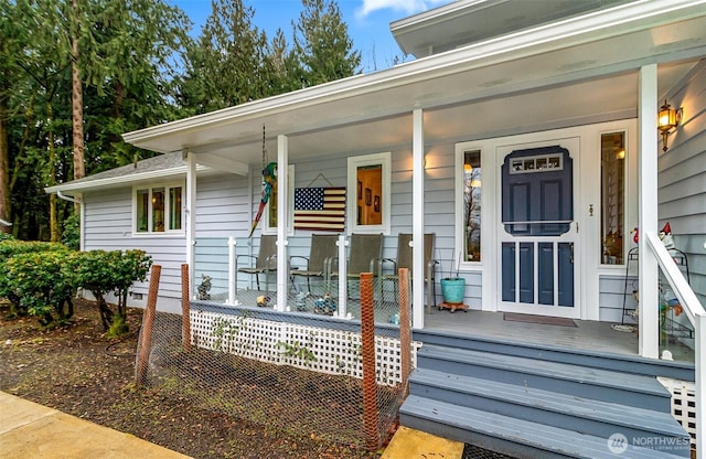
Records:
[[[671,394],[654,377],[567,363],[425,344],[419,369],[668,413]]]

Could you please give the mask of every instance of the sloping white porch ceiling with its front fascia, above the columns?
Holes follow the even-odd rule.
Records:
[[[287,135],[296,160],[410,148],[416,108],[425,110],[427,145],[634,117],[640,66],[659,64],[662,97],[706,56],[702,10],[607,25],[600,33],[571,34],[567,24],[560,40],[544,42],[542,31],[523,32],[515,42],[479,43],[125,138],[159,152],[185,149],[259,164],[263,126],[270,158],[277,135]]]

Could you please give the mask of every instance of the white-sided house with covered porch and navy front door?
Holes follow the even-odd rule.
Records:
[[[81,199],[83,249],[150,253],[165,310],[180,310],[182,264],[194,290],[203,274],[233,284],[228,241],[254,254],[269,233],[286,242],[275,301],[285,311],[287,259],[327,230],[300,228],[295,190],[345,188],[344,237],[382,233],[392,256],[398,233],[435,233],[436,277],[458,270],[472,310],[622,322],[637,290],[639,353],[656,359],[657,288],[668,282],[695,322],[686,343],[698,362],[706,1],[456,1],[391,29],[417,60],[128,132],[163,156],[47,192]],[[664,137],[663,104],[681,115]],[[249,239],[270,162],[277,193]],[[676,271],[657,247],[667,222],[687,260]],[[415,273],[422,257],[415,250]],[[132,306],[146,292],[137,286]],[[417,330],[425,295],[416,277]]]

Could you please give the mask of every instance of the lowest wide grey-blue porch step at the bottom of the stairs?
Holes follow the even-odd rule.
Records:
[[[671,452],[643,449],[628,444],[611,442],[607,438],[591,436],[459,406],[452,403],[409,395],[400,410],[404,426],[477,445],[515,458],[631,458],[675,459],[688,457]],[[612,448],[624,447],[625,450]],[[688,453],[688,451],[687,451]]]

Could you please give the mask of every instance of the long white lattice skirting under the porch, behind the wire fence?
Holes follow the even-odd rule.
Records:
[[[191,311],[191,342],[199,348],[319,373],[363,377],[360,333],[199,310]],[[413,366],[417,365],[420,345],[413,343]],[[399,340],[375,337],[375,356],[377,382],[399,384]]]

